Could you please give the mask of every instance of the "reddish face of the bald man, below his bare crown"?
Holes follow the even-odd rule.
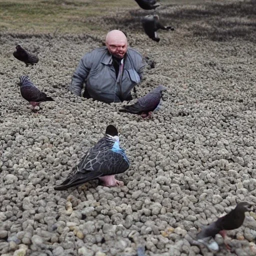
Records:
[[[127,40],[112,37],[106,42],[106,46],[113,56],[123,58],[127,51]]]

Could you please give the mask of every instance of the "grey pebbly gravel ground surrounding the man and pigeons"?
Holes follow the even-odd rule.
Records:
[[[156,63],[137,96],[168,88],[149,120],[68,92],[80,57],[103,37],[0,35],[1,255],[135,256],[139,245],[147,256],[255,255],[253,212],[228,231],[231,252],[218,235],[216,253],[189,242],[237,202],[256,203],[255,42],[185,28],[160,31],[158,44],[142,32],[128,36]],[[38,52],[36,66],[14,59],[17,42]],[[38,114],[20,96],[23,74],[55,99]],[[131,162],[118,176],[124,186],[53,190],[110,123]]]

